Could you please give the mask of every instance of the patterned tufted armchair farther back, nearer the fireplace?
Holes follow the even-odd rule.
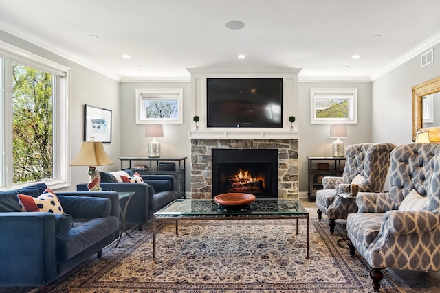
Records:
[[[390,153],[393,143],[361,143],[349,145],[342,177],[326,176],[322,178],[324,189],[316,193],[318,218],[322,213],[329,218],[330,233],[335,231],[336,219],[347,219],[349,213],[356,213],[358,205],[354,200],[340,198],[337,192],[347,190],[350,183],[357,183],[359,191],[383,191],[386,174],[390,165]],[[356,181],[353,181],[355,179]]]

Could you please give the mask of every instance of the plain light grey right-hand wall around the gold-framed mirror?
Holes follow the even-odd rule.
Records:
[[[420,67],[416,56],[372,82],[373,142],[412,143],[411,88],[440,75],[439,51],[440,45],[434,46],[434,63],[426,67]]]

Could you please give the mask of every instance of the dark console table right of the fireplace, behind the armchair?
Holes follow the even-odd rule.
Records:
[[[316,191],[322,189],[322,177],[324,176],[342,176],[344,173],[344,157],[337,156],[307,156],[309,161],[309,201],[316,200]],[[329,163],[329,169],[318,169],[318,163]]]

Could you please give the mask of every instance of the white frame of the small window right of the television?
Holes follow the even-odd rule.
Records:
[[[336,99],[347,99],[349,102],[348,118],[317,118],[316,101],[319,95],[334,96]],[[311,124],[357,124],[358,123],[358,89],[310,89],[310,123]]]

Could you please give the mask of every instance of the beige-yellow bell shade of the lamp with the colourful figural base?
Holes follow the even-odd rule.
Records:
[[[71,166],[103,166],[114,164],[107,156],[100,141],[85,141],[81,144],[80,152],[70,163]]]

